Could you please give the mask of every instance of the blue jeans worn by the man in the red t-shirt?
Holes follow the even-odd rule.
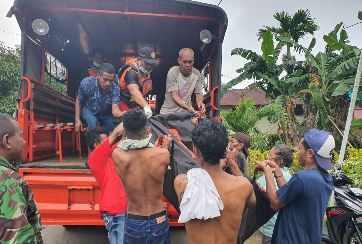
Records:
[[[110,244],[123,243],[123,232],[125,228],[125,214],[109,215],[104,212],[102,215]]]

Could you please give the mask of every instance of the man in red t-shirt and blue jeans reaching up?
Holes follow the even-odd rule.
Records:
[[[108,230],[111,244],[123,243],[127,210],[125,189],[112,159],[113,150],[118,145],[115,142],[122,133],[123,123],[119,124],[109,137],[103,127],[93,127],[85,133],[87,145],[92,150],[88,159],[89,168],[102,190],[99,214]]]

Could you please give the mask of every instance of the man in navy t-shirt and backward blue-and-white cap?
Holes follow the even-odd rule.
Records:
[[[331,155],[333,136],[324,130],[311,129],[299,143],[298,162],[304,170],[286,182],[276,163],[256,162],[256,171],[264,171],[266,192],[273,210],[279,210],[271,244],[321,243],[323,218],[332,194]],[[277,191],[273,179],[277,181]]]

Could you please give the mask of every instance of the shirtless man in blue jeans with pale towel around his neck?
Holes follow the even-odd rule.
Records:
[[[137,108],[123,114],[123,128],[127,139],[113,151],[128,197],[123,243],[171,243],[162,192],[172,137],[164,137],[163,148],[154,147],[147,116]]]

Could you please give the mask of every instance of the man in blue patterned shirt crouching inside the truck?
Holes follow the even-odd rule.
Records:
[[[121,117],[119,110],[119,87],[113,82],[115,69],[109,63],[103,63],[97,77],[86,77],[80,82],[78,97],[75,101],[75,131],[83,131],[80,116],[87,122],[88,129],[97,127],[98,122],[108,134],[114,130],[115,118]]]

